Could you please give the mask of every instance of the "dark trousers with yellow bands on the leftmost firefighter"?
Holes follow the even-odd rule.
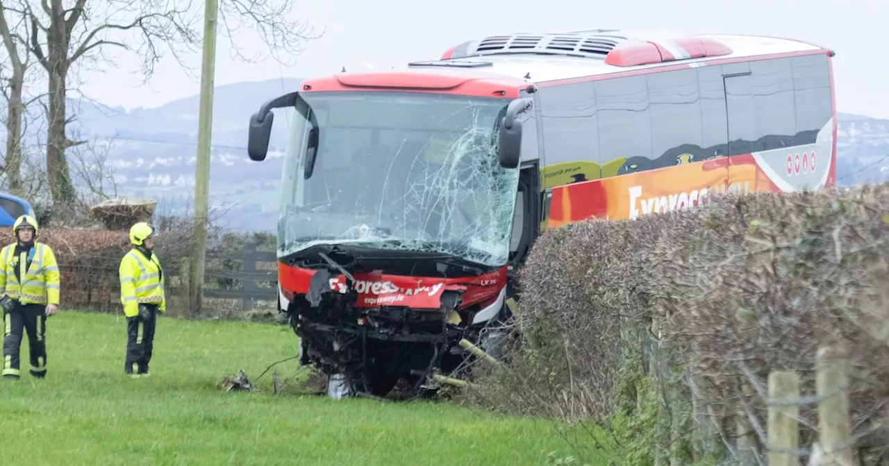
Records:
[[[20,375],[19,350],[22,329],[28,332],[28,355],[31,357],[30,374],[46,375],[46,306],[43,304],[15,304],[12,312],[4,314],[3,375],[18,378]]]

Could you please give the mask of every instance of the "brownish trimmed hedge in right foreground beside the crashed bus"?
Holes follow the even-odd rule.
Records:
[[[519,272],[525,339],[509,353],[510,370],[468,396],[629,429],[654,380],[673,429],[689,422],[694,393],[731,443],[745,409],[765,429],[771,371],[796,371],[813,394],[815,351],[839,343],[854,370],[858,446],[889,445],[887,238],[889,186],[727,194],[697,209],[550,230]],[[805,446],[817,413],[800,413]],[[637,434],[663,433],[655,430]]]

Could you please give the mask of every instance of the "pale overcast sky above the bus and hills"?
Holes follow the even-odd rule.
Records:
[[[889,0],[299,0],[294,14],[326,29],[322,38],[304,44],[295,67],[279,67],[271,59],[244,65],[229,57],[220,36],[216,85],[436,59],[453,44],[512,32],[667,29],[789,37],[832,48],[839,111],[889,118]],[[260,50],[254,37],[237,40]],[[199,55],[192,59],[199,65]],[[198,81],[172,58],[158,67],[150,85],[140,85],[137,60],[121,57],[120,67],[84,73],[84,93],[130,108],[157,107],[198,92]]]

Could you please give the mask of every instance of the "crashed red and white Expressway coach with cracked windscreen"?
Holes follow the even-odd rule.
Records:
[[[545,228],[836,177],[833,51],[789,39],[596,29],[469,41],[402,69],[307,79],[277,235],[302,361],[351,388],[494,351],[510,271]],[[462,342],[466,346],[466,342]]]

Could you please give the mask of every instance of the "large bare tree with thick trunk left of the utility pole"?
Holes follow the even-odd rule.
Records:
[[[58,207],[73,207],[76,190],[65,151],[84,141],[72,141],[66,133],[69,70],[78,63],[107,64],[102,51],[108,47],[138,53],[146,81],[165,51],[188,70],[182,53],[196,51],[203,41],[202,12],[193,8],[191,0],[34,0],[27,7],[30,50],[48,74],[46,169],[52,200]],[[287,0],[220,0],[221,30],[234,39],[241,27],[249,26],[262,36],[269,53],[285,62],[301,53],[301,43],[316,38],[309,36],[305,24],[287,19],[291,10],[292,2]],[[235,47],[236,41],[231,42]],[[240,49],[233,51],[245,61],[261,59],[261,55],[247,58]]]

